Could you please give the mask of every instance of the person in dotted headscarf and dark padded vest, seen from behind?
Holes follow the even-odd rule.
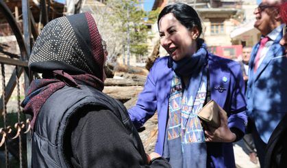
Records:
[[[32,119],[32,167],[169,167],[146,155],[121,102],[103,94],[105,46],[89,13],[56,18],[38,36],[24,113]],[[151,161],[152,160],[152,161]]]

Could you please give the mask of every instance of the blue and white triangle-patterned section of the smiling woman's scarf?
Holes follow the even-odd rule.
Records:
[[[197,117],[206,96],[206,83],[201,83],[195,102],[188,94],[182,93],[182,82],[176,74],[173,76],[171,97],[169,99],[168,139],[181,137],[182,143],[202,143],[204,132]]]

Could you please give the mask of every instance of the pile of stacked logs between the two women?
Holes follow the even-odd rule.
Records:
[[[149,71],[132,66],[117,65],[109,68],[113,77],[105,80],[103,92],[123,102],[127,109],[133,107],[138,100],[138,94],[142,92]],[[158,136],[158,115],[151,117],[139,131],[146,152],[153,152]]]

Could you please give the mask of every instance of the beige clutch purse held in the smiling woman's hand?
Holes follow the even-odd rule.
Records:
[[[224,111],[214,100],[210,100],[210,102],[205,104],[205,106],[201,109],[201,111],[199,111],[199,113],[197,113],[197,115],[201,120],[203,120],[205,124],[207,124],[207,126],[219,128],[221,125],[219,118],[220,110]]]

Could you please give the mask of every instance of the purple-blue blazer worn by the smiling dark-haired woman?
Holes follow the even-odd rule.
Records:
[[[138,96],[136,106],[129,109],[129,117],[139,128],[158,110],[158,140],[155,152],[162,154],[166,122],[168,119],[169,94],[173,73],[168,68],[168,56],[160,57],[151,68],[145,88]],[[208,55],[211,98],[228,115],[229,128],[238,128],[243,133],[247,124],[245,82],[240,64],[212,54]],[[224,88],[219,90],[218,88]],[[232,143],[207,143],[208,167],[235,167]]]

